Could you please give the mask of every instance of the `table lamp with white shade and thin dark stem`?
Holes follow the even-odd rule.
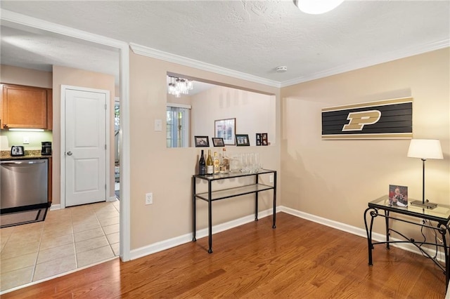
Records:
[[[427,159],[444,159],[441,142],[437,139],[411,139],[408,157],[422,159],[422,201],[412,201],[411,204],[424,208],[435,208],[437,204],[430,203],[428,199],[425,200],[425,161]]]

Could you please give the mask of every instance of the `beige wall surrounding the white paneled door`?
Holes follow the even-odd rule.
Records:
[[[110,197],[114,196],[114,76],[82,69],[53,66],[53,204],[60,204],[61,85],[110,91]]]

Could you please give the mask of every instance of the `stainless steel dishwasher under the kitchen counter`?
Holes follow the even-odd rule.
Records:
[[[48,202],[48,159],[0,161],[0,208],[44,206]]]

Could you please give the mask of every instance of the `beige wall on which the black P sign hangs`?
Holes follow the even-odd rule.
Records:
[[[413,138],[439,139],[444,152],[443,160],[426,161],[426,197],[450,204],[449,52],[282,88],[283,206],[364,228],[368,201],[387,194],[390,184],[408,186],[410,199],[421,199],[422,161],[406,157],[409,140],[321,140],[321,108],[407,96]]]

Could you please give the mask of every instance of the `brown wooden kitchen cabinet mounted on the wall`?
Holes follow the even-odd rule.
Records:
[[[51,89],[2,84],[1,128],[53,126]]]

